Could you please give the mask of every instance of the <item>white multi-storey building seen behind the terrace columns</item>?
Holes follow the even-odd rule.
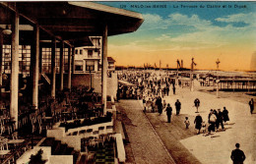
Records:
[[[92,46],[75,49],[75,74],[96,73],[101,70],[101,36],[91,36]]]

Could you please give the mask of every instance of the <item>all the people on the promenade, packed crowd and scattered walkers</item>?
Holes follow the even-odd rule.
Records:
[[[175,75],[157,75],[154,73],[145,73],[145,72],[130,72],[126,74],[121,74],[118,76],[119,80],[133,83],[133,85],[127,86],[119,84],[117,91],[117,99],[121,98],[134,98],[142,99],[143,102],[143,111],[146,112],[158,112],[159,115],[162,112],[166,112],[167,123],[171,123],[171,116],[173,110],[175,110],[176,116],[180,114],[181,102],[179,99],[173,104],[173,108],[170,103],[166,103],[165,96],[174,95],[176,92],[177,78]],[[200,83],[201,86],[204,83]],[[172,91],[171,91],[172,90]],[[172,93],[171,93],[172,92]],[[211,109],[208,117],[204,118],[199,114],[198,109],[200,107],[200,99],[196,98],[194,100],[194,107],[196,107],[196,117],[194,119],[194,128],[196,134],[204,134],[204,137],[211,135],[212,133],[217,133],[219,131],[225,131],[225,125],[229,121],[228,111],[224,107],[222,110]],[[253,114],[254,111],[254,101],[253,98],[249,101],[250,113]],[[184,120],[185,129],[190,127],[190,116],[186,116]],[[234,163],[242,163],[245,159],[243,151],[239,150],[239,143],[235,144],[236,149],[231,152],[230,158]]]

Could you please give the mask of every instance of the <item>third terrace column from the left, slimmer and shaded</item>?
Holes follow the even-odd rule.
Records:
[[[55,65],[55,57],[56,57],[56,38],[52,39],[52,47],[51,47],[51,97],[55,99],[56,92],[56,65]]]

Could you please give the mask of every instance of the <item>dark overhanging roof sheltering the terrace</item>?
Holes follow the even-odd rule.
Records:
[[[101,36],[107,26],[108,35],[133,32],[143,23],[139,13],[93,2],[0,2],[0,25],[10,25],[5,8],[19,11],[20,25],[38,24],[45,32],[40,39],[51,40],[52,35],[78,46],[92,45],[89,36]],[[4,7],[3,7],[4,6]],[[6,14],[7,15],[7,14]],[[49,35],[48,33],[52,33]],[[30,41],[32,29],[20,30],[22,39]]]

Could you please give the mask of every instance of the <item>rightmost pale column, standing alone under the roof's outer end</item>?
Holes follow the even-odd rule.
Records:
[[[102,92],[102,103],[104,104],[103,114],[106,113],[106,80],[107,80],[107,26],[103,29],[102,35],[102,55],[101,55],[101,92]]]

